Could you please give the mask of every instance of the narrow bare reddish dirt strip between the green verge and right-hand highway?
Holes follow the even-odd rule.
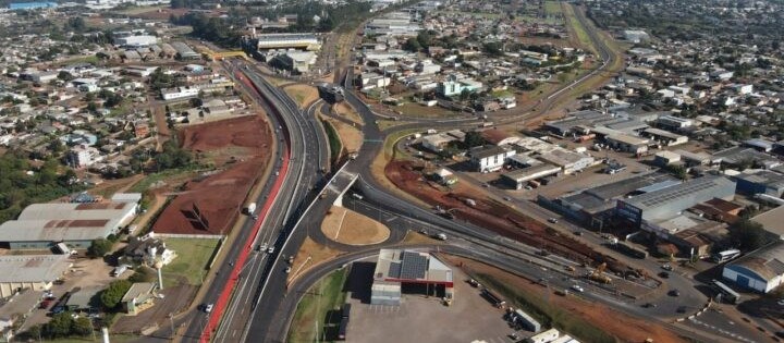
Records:
[[[454,256],[445,256],[444,258],[453,265],[461,265],[463,270],[468,274],[491,275],[495,280],[520,292],[532,294],[541,294],[543,292],[541,285],[532,283],[530,280],[510,274],[501,269]],[[662,326],[614,311],[600,304],[572,296],[558,296],[555,294],[550,294],[547,303],[567,314],[579,316],[602,331],[614,335],[622,342],[644,342],[646,339],[652,339],[653,342],[683,342],[681,338]]]

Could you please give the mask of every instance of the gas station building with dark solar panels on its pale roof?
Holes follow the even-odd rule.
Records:
[[[372,305],[400,306],[404,292],[451,299],[452,268],[428,253],[381,249],[370,291]]]

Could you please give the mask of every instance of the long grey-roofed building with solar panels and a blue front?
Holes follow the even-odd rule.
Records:
[[[707,175],[684,183],[661,184],[661,188],[626,199],[618,199],[615,215],[646,231],[659,233],[659,222],[678,217],[682,211],[712,198],[732,200],[735,182]]]

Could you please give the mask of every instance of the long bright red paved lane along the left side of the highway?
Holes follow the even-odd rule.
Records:
[[[237,72],[235,73],[237,78],[242,79],[242,82],[249,88],[249,89],[256,89],[256,87],[248,81],[246,76],[243,76],[242,73]],[[283,125],[283,120],[280,119],[281,125]],[[289,142],[289,136],[285,135],[286,143]],[[287,145],[290,146],[290,145]],[[272,203],[274,203],[275,197],[278,196],[278,193],[280,192],[280,188],[283,184],[283,180],[285,180],[286,172],[289,170],[289,160],[290,160],[291,152],[289,149],[283,150],[283,162],[281,163],[280,168],[280,175],[275,176],[274,185],[272,185],[272,189],[270,189],[270,194],[267,197],[267,201],[265,201],[264,207],[259,211],[259,220],[257,220],[254,224],[254,228],[250,232],[250,234],[245,240],[245,246],[243,247],[242,252],[240,252],[240,255],[237,256],[236,264],[234,264],[234,268],[231,271],[231,274],[229,275],[229,281],[226,282],[225,286],[220,293],[220,296],[218,297],[218,301],[215,303],[212,307],[212,311],[209,315],[209,320],[207,322],[207,326],[205,326],[204,331],[201,332],[201,340],[203,343],[209,343],[210,336],[215,330],[218,329],[218,324],[220,323],[221,317],[223,316],[223,311],[226,309],[226,306],[229,305],[229,301],[231,299],[232,292],[234,287],[236,286],[237,282],[240,281],[240,271],[245,266],[245,262],[248,259],[248,256],[250,252],[253,250],[253,242],[256,235],[258,234],[259,230],[261,229],[261,223],[264,222],[262,218],[267,218],[267,215],[269,213],[270,208],[272,207]]]

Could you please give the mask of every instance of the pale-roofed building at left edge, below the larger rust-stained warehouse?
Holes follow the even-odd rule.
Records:
[[[71,268],[68,255],[0,256],[0,297],[5,298],[22,289],[45,291]]]

